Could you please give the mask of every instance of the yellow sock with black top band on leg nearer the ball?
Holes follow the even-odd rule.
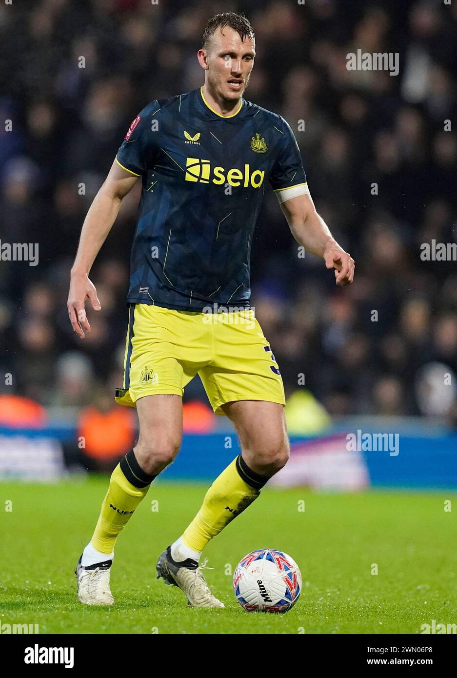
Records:
[[[210,539],[252,504],[268,480],[254,473],[240,454],[207,491],[201,509],[184,530],[184,544],[193,551],[203,551]]]

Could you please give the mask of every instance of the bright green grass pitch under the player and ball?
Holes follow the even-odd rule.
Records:
[[[263,490],[205,549],[214,567],[207,582],[225,609],[194,610],[155,579],[155,563],[199,508],[205,485],[195,484],[154,483],[117,544],[116,605],[77,602],[73,570],[105,488],[106,477],[0,483],[1,624],[39,624],[40,633],[309,634],[420,633],[432,619],[457,622],[457,497],[450,492]],[[454,511],[445,512],[452,499]],[[235,601],[228,573],[258,548],[281,549],[300,566],[302,594],[287,614],[247,613]]]

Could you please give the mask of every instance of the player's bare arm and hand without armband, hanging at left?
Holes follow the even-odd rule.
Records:
[[[85,314],[85,300],[90,299],[94,311],[100,311],[94,284],[89,279],[90,269],[108,233],[116,220],[122,199],[132,190],[138,176],[127,172],[115,160],[85,217],[75,263],[71,268],[68,292],[68,315],[73,331],[83,339],[84,330],[90,332]]]

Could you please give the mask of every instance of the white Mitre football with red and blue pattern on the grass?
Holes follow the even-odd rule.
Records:
[[[282,551],[259,549],[245,555],[233,574],[233,591],[246,612],[287,612],[302,588],[297,563]]]

